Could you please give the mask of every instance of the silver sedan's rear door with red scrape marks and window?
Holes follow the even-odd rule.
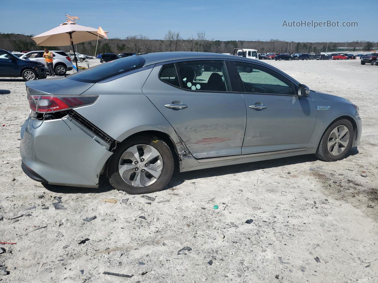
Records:
[[[223,60],[155,66],[143,86],[195,158],[242,153],[246,108],[225,66]]]

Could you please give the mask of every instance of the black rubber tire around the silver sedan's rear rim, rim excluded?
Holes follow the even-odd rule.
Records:
[[[134,145],[149,145],[155,148],[161,155],[163,159],[163,171],[158,179],[152,185],[137,188],[132,185],[127,184],[121,177],[118,171],[118,164],[119,159],[121,158],[122,154],[130,147]],[[109,165],[108,165],[108,177],[109,182],[112,186],[118,190],[125,191],[129,194],[149,194],[151,192],[158,192],[163,190],[170,179],[172,178],[172,174],[174,171],[175,162],[174,157],[172,155],[172,151],[170,150],[169,146],[159,138],[148,136],[148,135],[141,135],[129,138],[123,141],[120,145],[117,146],[116,152],[112,155]]]

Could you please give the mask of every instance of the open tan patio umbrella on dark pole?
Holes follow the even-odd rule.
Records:
[[[36,35],[32,37],[32,39],[37,43],[37,46],[71,45],[77,69],[77,58],[74,44],[96,40],[98,38],[104,39],[104,33],[107,33],[107,31],[102,31],[101,29],[101,33],[99,33],[98,29],[77,25],[76,19],[79,19],[78,17],[71,17],[69,15],[66,15],[66,17],[67,22],[60,24],[56,28],[50,29],[50,31]]]

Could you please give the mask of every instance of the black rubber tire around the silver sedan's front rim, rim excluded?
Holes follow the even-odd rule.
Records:
[[[341,152],[341,154],[335,156],[335,155],[332,155],[328,152],[328,148],[327,148],[328,137],[330,136],[333,129],[335,129],[337,126],[341,126],[341,125],[347,127],[347,129],[349,131],[349,142],[348,142],[348,145],[346,146],[346,148],[344,149],[344,151]],[[338,120],[338,121],[332,123],[332,125],[328,126],[327,131],[324,132],[315,155],[316,155],[316,157],[318,157],[319,159],[324,160],[324,161],[341,160],[345,157],[345,155],[347,155],[350,147],[352,146],[353,138],[354,138],[354,132],[353,132],[352,123],[350,123],[350,121],[347,120],[347,119]]]

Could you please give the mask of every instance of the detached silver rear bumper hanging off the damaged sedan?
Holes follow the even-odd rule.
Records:
[[[29,125],[33,122],[34,128]],[[67,118],[30,119],[21,129],[22,169],[36,181],[53,185],[97,187],[112,155]]]

